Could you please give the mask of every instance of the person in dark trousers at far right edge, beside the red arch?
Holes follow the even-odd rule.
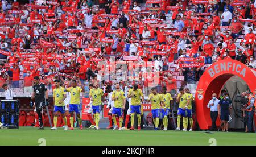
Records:
[[[247,98],[249,101],[246,104],[246,108],[242,109],[243,111],[245,111],[245,116],[246,116],[246,128],[245,128],[245,132],[246,133],[250,133],[253,130],[253,114],[254,114],[254,108],[256,106],[256,101],[255,101],[255,97],[253,96],[253,94],[251,94],[250,91],[246,91],[245,92],[245,98]]]

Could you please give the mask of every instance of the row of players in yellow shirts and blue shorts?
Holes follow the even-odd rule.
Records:
[[[58,112],[61,113],[61,116],[64,118],[65,126],[64,130],[68,130],[67,127],[67,113],[70,114],[70,123],[71,128],[69,130],[73,130],[73,115],[76,113],[77,119],[79,122],[80,129],[82,130],[82,123],[80,117],[80,93],[85,92],[85,87],[82,86],[79,81],[79,86],[77,86],[77,82],[75,80],[71,80],[69,82],[69,87],[64,88],[60,86],[60,80],[55,80],[56,88],[53,90],[53,101],[54,101],[54,126],[52,130],[56,130],[57,125],[57,116]],[[80,87],[81,86],[81,87]],[[99,88],[98,82],[94,82],[94,85],[89,85],[89,98],[90,98],[90,108],[89,108],[89,119],[92,125],[89,127],[90,129],[99,130],[99,122],[100,122],[100,113],[103,106],[104,101],[104,92]],[[151,89],[151,94],[148,96],[148,102],[151,102],[152,109],[152,117],[154,119],[155,130],[158,130],[159,125],[159,117],[162,112],[163,115],[163,125],[164,131],[167,130],[168,126],[168,115],[170,114],[170,104],[172,101],[172,97],[170,93],[167,93],[166,87],[163,87],[162,94],[157,93],[156,88]],[[107,86],[106,92],[109,93],[108,97],[108,108],[109,110],[109,129],[112,128],[112,121],[114,122],[113,130],[127,130],[127,125],[131,118],[131,128],[129,130],[134,130],[134,117],[137,114],[138,118],[138,130],[141,130],[141,114],[143,111],[142,102],[144,101],[144,96],[141,89],[138,89],[138,85],[134,85],[133,88],[129,89],[129,92],[125,94],[123,90],[121,90],[119,83],[115,84],[115,90],[112,91],[111,86]],[[126,98],[129,102],[129,109],[127,110],[125,127],[122,127],[123,123],[123,111],[126,106]],[[180,88],[180,93],[177,96],[177,103],[179,103],[178,117],[177,117],[177,128],[175,130],[180,130],[180,119],[183,117],[183,131],[187,131],[188,127],[188,118],[191,125],[192,131],[193,120],[192,120],[192,100],[193,96],[189,93],[189,89]],[[66,112],[66,114],[65,114]],[[93,115],[92,115],[93,114]],[[93,118],[92,118],[93,117]],[[94,121],[93,121],[94,119]]]

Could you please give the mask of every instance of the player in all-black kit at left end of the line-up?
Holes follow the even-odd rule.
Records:
[[[35,108],[36,113],[38,113],[39,123],[40,127],[39,130],[44,129],[43,119],[42,119],[42,110],[44,106],[48,106],[48,92],[47,87],[45,84],[40,82],[40,79],[38,76],[34,77],[34,92],[32,93],[30,105],[33,106],[33,100],[35,98]]]

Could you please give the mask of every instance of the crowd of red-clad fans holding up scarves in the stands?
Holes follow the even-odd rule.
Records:
[[[195,87],[204,69],[219,60],[256,68],[255,3],[3,0],[1,86],[8,82],[33,92],[35,76],[49,89],[55,80],[75,78],[87,87],[97,81],[104,92],[108,85],[115,90],[115,81],[121,89],[136,84],[145,96],[166,86],[175,97],[181,86]]]

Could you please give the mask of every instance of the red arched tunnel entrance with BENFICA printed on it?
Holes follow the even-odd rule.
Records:
[[[210,129],[212,126],[207,104],[212,99],[212,94],[220,93],[225,82],[234,75],[243,79],[251,92],[256,94],[256,71],[236,60],[221,60],[214,63],[204,72],[196,89],[196,115],[200,129]],[[217,125],[220,125],[219,121]]]

